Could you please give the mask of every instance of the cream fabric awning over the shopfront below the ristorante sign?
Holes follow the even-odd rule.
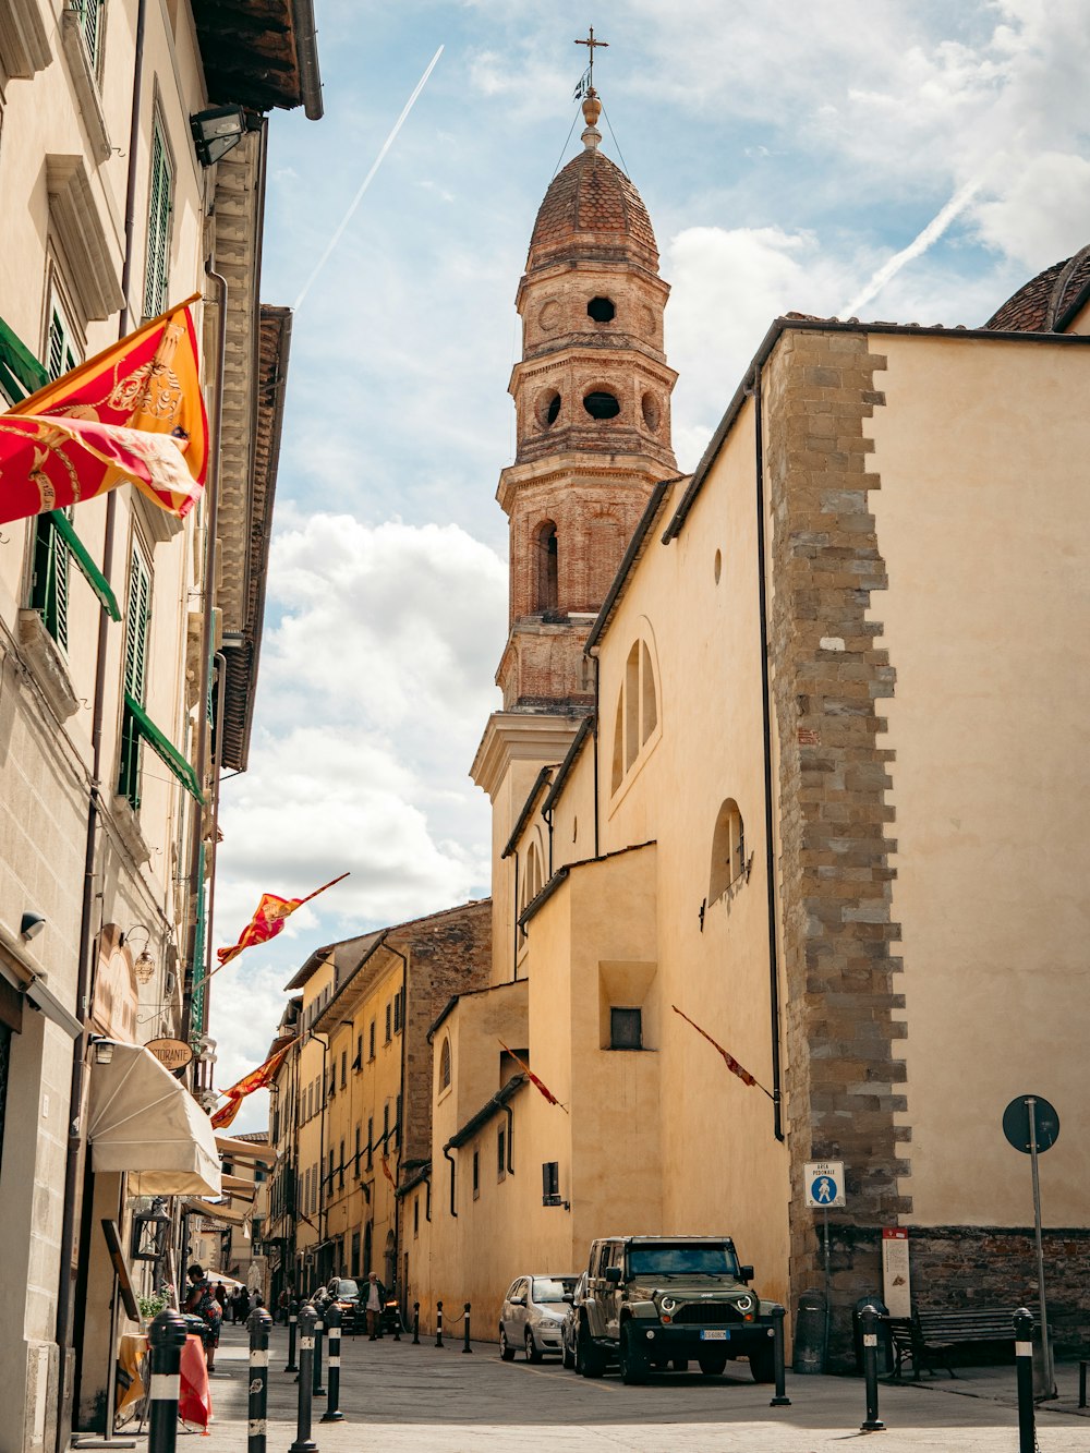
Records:
[[[110,1062],[92,1065],[92,1168],[128,1171],[134,1196],[219,1196],[212,1122],[142,1045],[110,1045]]]

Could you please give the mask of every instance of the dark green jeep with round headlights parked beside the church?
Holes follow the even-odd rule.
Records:
[[[651,1367],[718,1377],[728,1359],[748,1357],[754,1382],[773,1382],[769,1306],[747,1286],[730,1237],[610,1237],[590,1247],[578,1306],[576,1360],[600,1377],[616,1359],[626,1383]]]

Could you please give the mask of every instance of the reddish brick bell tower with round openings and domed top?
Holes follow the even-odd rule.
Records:
[[[497,491],[510,519],[510,635],[496,676],[507,712],[592,706],[583,645],[648,494],[677,474],[670,289],[639,193],[599,151],[600,113],[592,86],[583,153],[545,193],[516,298],[519,443]]]

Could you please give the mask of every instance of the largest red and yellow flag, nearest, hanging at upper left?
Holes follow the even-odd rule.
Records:
[[[192,510],[208,465],[196,298],[0,414],[0,525],[128,482],[179,519]]]

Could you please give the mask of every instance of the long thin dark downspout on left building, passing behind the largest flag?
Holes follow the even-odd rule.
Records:
[[[140,112],[144,96],[144,32],[147,22],[147,0],[137,0],[137,35],[132,58],[132,108],[129,113],[129,157],[125,177],[125,251],[121,263],[122,305],[118,320],[118,337],[124,339],[129,328],[129,288],[132,285],[132,254],[137,227],[137,154],[140,150]],[[118,495],[110,490],[106,495],[106,527],[102,543],[102,572],[110,578],[113,568],[113,541],[118,522]],[[102,725],[106,699],[106,644],[109,612],[99,606],[97,660],[94,664],[94,705],[92,711],[92,782],[87,802],[87,840],[83,859],[83,904],[80,908],[80,946],[76,985],[76,1017],[83,1021],[83,1033],[73,1040],[71,1080],[68,1091],[68,1144],[64,1158],[64,1205],[61,1209],[60,1282],[57,1287],[57,1447],[67,1447],[73,1424],[73,1408],[65,1414],[65,1402],[76,1388],[73,1376],[68,1386],[68,1347],[74,1344],[73,1328],[73,1251],[76,1248],[77,1186],[80,1180],[80,1151],[86,1149],[83,1139],[83,1093],[86,1082],[87,1020],[93,998],[94,952],[94,859],[99,833],[99,802],[102,796]],[[76,1369],[73,1367],[73,1373]]]

